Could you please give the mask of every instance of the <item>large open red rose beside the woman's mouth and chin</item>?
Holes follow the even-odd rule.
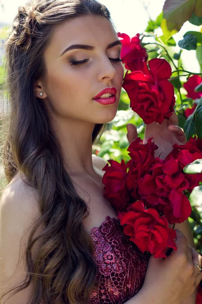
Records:
[[[133,71],[125,74],[122,87],[128,93],[130,106],[145,122],[162,124],[174,111],[174,87],[168,81],[172,70],[165,59],[146,62],[138,58],[132,62]]]

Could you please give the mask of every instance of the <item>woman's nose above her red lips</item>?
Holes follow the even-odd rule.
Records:
[[[115,62],[116,64],[116,62]],[[113,66],[112,62],[107,56],[104,56],[99,62],[98,67],[98,80],[102,81],[103,79],[112,80],[115,77],[116,68]]]

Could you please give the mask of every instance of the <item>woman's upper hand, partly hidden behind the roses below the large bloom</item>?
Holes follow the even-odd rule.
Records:
[[[127,129],[127,139],[130,144],[138,137],[137,129],[133,124],[128,124]],[[145,125],[143,144],[145,144],[150,137],[154,137],[152,141],[159,147],[155,151],[155,157],[160,156],[161,159],[167,157],[175,143],[181,145],[187,141],[183,129],[178,126],[178,117],[175,112],[173,112],[168,120],[165,119],[161,125],[156,122]]]

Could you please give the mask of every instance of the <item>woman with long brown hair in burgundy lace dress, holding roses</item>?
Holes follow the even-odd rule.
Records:
[[[201,257],[181,232],[177,251],[149,258],[103,197],[104,164],[92,158],[92,143],[117,112],[120,52],[110,13],[95,0],[35,0],[18,9],[6,43],[12,113],[1,303],[179,304],[202,279],[193,265],[201,267]],[[105,93],[113,97],[102,96],[104,103],[113,103],[94,99]],[[169,128],[175,142],[183,137]]]

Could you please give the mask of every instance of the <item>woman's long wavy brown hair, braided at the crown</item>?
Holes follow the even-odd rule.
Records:
[[[18,292],[33,282],[30,304],[41,299],[45,304],[84,304],[97,286],[93,243],[82,223],[89,210],[64,169],[44,104],[34,95],[34,82],[46,73],[43,53],[55,26],[83,15],[101,15],[112,22],[108,9],[96,0],[32,0],[18,8],[6,41],[11,117],[5,173],[10,182],[20,172],[24,182],[37,189],[41,213],[26,248],[26,278],[11,289]],[[95,125],[92,143],[104,128]],[[44,230],[35,236],[41,224]],[[31,250],[38,239],[42,246],[33,260]]]

